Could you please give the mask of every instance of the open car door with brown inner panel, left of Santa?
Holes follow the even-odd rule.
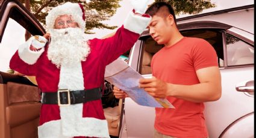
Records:
[[[0,13],[0,138],[37,137],[40,89],[26,77],[10,74],[10,58],[25,42],[25,32],[45,30],[19,1],[1,1]]]

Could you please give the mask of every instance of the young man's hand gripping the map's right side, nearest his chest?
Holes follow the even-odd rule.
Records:
[[[166,98],[168,92],[168,83],[152,77],[151,79],[140,79],[140,88],[144,88],[148,94],[155,98]]]

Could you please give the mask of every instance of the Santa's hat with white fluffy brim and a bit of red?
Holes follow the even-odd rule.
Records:
[[[61,15],[71,15],[72,19],[78,23],[81,29],[86,28],[86,17],[84,16],[84,8],[83,5],[78,3],[66,2],[63,5],[58,5],[57,7],[52,8],[46,16],[46,27],[47,29],[54,29],[55,20],[58,16]]]

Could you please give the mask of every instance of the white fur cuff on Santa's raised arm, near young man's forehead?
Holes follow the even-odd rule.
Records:
[[[131,11],[131,13],[128,14],[128,17],[126,17],[123,27],[132,32],[136,32],[137,34],[142,34],[142,32],[146,29],[146,26],[148,26],[150,20],[151,17],[137,16],[133,13],[133,11]]]

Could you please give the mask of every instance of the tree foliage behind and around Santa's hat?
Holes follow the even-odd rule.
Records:
[[[48,11],[51,10],[51,8],[56,7],[57,5],[64,4],[65,2],[81,3],[86,10],[86,33],[91,34],[93,32],[90,31],[94,28],[117,28],[117,26],[110,26],[102,23],[102,21],[109,20],[110,17],[112,17],[116,13],[117,8],[120,7],[120,1],[121,0],[30,0],[30,11],[39,20],[39,22],[45,25],[45,17],[47,16]],[[26,0],[21,0],[21,2],[25,4]]]

